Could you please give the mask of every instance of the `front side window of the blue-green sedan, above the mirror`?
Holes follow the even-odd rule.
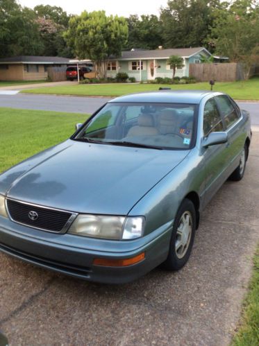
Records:
[[[214,98],[210,98],[204,106],[203,112],[203,133],[208,136],[210,132],[223,131],[223,123],[221,116],[217,110]]]

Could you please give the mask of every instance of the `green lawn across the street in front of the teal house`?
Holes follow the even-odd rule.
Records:
[[[209,90],[208,83],[187,85],[154,85],[154,84],[106,84],[106,85],[66,85],[60,87],[42,87],[23,90],[32,94],[60,94],[79,96],[121,96],[134,92],[158,90],[159,87],[171,87],[172,89],[203,89]],[[226,92],[236,100],[259,100],[259,78],[231,83],[217,83],[215,91]]]

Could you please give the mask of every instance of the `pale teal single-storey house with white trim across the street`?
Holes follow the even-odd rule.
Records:
[[[129,77],[135,77],[137,81],[152,80],[156,77],[172,78],[173,69],[167,63],[171,55],[183,58],[183,68],[176,69],[178,77],[189,76],[189,64],[199,64],[202,58],[210,58],[211,54],[204,47],[179,48],[179,49],[155,49],[152,51],[132,49],[123,51],[121,58],[110,58],[108,61],[107,77],[115,77],[118,72],[126,72]]]

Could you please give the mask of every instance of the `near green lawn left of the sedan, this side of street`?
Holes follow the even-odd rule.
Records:
[[[0,172],[70,137],[85,114],[0,108]]]

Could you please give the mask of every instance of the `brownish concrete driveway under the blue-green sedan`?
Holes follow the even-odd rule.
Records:
[[[201,217],[178,273],[92,284],[0,254],[0,329],[11,345],[228,345],[259,236],[259,132],[241,182],[226,182]]]

